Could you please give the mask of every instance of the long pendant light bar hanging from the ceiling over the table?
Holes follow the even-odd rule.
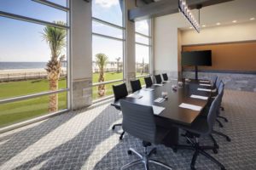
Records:
[[[189,6],[187,5],[186,0],[178,0],[178,9],[184,15],[184,17],[189,20],[189,23],[194,27],[195,31],[200,33],[200,25],[189,10]]]

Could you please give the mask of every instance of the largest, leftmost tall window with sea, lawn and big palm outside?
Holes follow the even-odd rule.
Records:
[[[68,108],[68,6],[0,1],[0,127]]]

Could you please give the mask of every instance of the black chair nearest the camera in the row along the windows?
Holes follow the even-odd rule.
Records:
[[[122,83],[119,85],[113,85],[112,88],[113,88],[114,101],[118,101],[119,99],[125,98],[128,95],[128,91],[125,83]],[[121,111],[121,108],[117,106],[115,106],[115,108]],[[114,130],[114,128],[117,126],[122,126],[122,123],[114,124],[112,129]],[[125,131],[123,131],[120,134],[119,139],[123,139],[124,134],[125,134]]]

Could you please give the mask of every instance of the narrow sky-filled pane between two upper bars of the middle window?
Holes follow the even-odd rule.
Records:
[[[94,33],[123,39],[123,31],[121,29],[115,28],[113,26],[107,26],[96,21],[92,21],[92,31]]]

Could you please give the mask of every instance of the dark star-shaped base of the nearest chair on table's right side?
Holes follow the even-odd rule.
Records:
[[[195,161],[197,159],[197,156],[201,154],[202,156],[206,156],[209,160],[213,161],[218,165],[218,167],[221,168],[221,170],[225,170],[225,167],[223,164],[221,164],[219,161],[217,161],[214,157],[209,155],[205,150],[213,150],[214,153],[218,153],[217,147],[216,146],[201,146],[198,142],[198,139],[196,138],[196,141],[192,141],[189,139],[189,142],[191,145],[184,145],[184,144],[177,144],[173,146],[172,150],[174,152],[177,152],[178,149],[183,149],[183,150],[194,150],[194,155],[192,157],[191,163],[190,163],[190,168],[195,169]]]

